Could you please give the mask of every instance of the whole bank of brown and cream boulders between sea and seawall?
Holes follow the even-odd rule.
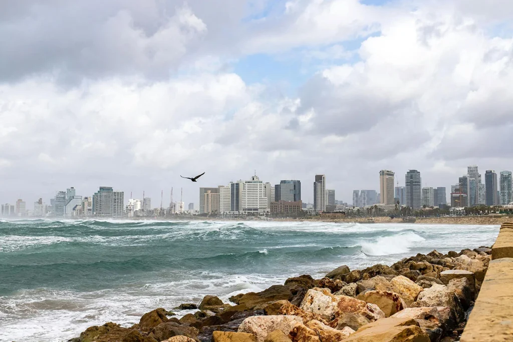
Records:
[[[178,309],[163,308],[138,324],[90,327],[70,342],[450,342],[459,339],[491,259],[482,247],[432,251],[392,266],[341,266],[322,279],[289,278],[225,304],[207,295]]]

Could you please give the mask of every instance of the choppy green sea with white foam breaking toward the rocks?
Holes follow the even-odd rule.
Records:
[[[341,265],[490,246],[498,233],[406,223],[0,220],[0,341],[67,341],[207,294],[226,302]]]

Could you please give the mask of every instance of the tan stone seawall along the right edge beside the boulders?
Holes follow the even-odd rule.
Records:
[[[461,342],[513,341],[513,222],[501,226]]]

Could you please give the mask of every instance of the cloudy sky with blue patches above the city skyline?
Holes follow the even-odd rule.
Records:
[[[0,203],[513,169],[510,0],[0,2]],[[198,183],[180,175],[206,172]],[[31,209],[28,205],[28,209]]]

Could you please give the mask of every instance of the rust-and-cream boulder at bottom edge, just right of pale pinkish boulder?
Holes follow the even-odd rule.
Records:
[[[318,320],[311,320],[306,325],[293,327],[289,337],[292,342],[339,342],[348,336],[347,333],[347,330],[342,332]]]

